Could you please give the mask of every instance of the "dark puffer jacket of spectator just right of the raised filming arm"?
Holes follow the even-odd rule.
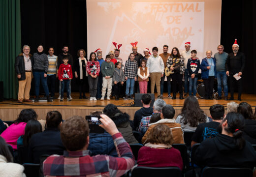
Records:
[[[124,113],[112,118],[115,122],[117,129],[122,133],[124,139],[128,144],[136,144],[138,141],[134,138],[132,128],[129,123],[129,115]]]

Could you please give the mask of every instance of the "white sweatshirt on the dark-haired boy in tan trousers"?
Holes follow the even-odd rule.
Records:
[[[147,68],[149,73],[161,73],[164,72],[164,63],[162,58],[158,55],[156,58],[154,56],[149,57],[147,60]]]

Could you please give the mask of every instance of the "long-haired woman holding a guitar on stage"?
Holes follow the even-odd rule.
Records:
[[[182,77],[185,71],[185,66],[184,59],[182,55],[180,55],[179,49],[177,47],[172,48],[171,56],[167,59],[166,66],[169,67],[172,71],[174,71],[173,74],[170,74],[167,77],[167,81],[172,80],[172,99],[176,99],[177,84],[179,85],[180,99],[184,99]]]

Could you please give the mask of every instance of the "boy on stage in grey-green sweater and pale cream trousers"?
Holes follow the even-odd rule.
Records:
[[[102,73],[102,97],[100,98],[101,101],[104,100],[106,89],[107,89],[107,100],[110,100],[110,94],[113,85],[113,74],[115,71],[115,65],[111,60],[110,55],[106,56],[106,60],[101,64],[101,73]]]

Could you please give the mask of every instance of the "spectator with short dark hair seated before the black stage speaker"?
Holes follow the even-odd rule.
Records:
[[[151,116],[153,113],[153,108],[150,107],[151,96],[149,94],[143,94],[141,96],[141,103],[143,107],[135,112],[134,118],[133,118],[133,125],[135,128],[135,131],[138,131],[139,129],[139,124],[141,119],[146,116]]]

